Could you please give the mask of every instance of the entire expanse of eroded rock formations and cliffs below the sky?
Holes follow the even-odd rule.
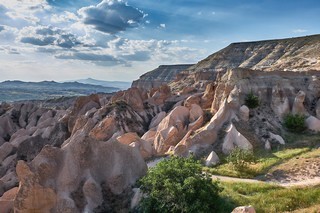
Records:
[[[267,152],[286,145],[288,114],[320,132],[320,35],[233,43],[114,94],[2,103],[0,209],[129,212],[148,159]]]

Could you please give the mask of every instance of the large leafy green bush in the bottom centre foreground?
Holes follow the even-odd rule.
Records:
[[[199,162],[191,158],[172,157],[150,169],[140,180],[147,195],[139,212],[217,212],[217,182],[202,172]]]

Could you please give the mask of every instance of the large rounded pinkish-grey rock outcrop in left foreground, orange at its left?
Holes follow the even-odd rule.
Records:
[[[19,161],[19,212],[106,212],[129,208],[131,185],[146,172],[139,150],[76,133],[61,149],[46,146],[28,165]],[[128,194],[129,193],[129,194]],[[114,198],[127,199],[114,203]]]

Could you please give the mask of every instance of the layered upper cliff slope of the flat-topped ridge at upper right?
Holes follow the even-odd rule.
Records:
[[[320,70],[320,35],[232,43],[192,66],[191,72],[231,68],[254,70]]]

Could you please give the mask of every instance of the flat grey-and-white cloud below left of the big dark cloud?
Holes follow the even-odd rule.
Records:
[[[50,26],[24,28],[20,32],[20,41],[37,46],[54,45],[62,48],[72,48],[81,44],[73,34]]]

